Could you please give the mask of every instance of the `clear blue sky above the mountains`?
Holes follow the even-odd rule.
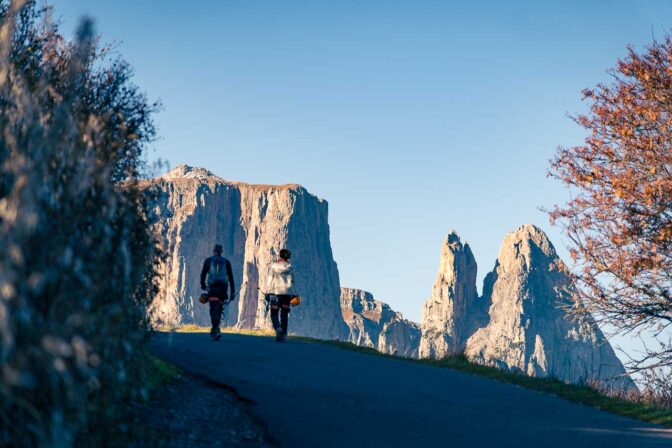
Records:
[[[343,286],[418,321],[446,233],[480,282],[505,234],[560,231],[540,206],[584,87],[672,23],[670,1],[56,0],[82,15],[161,99],[151,157],[329,202]],[[300,254],[297,254],[300,256]],[[196,279],[194,279],[196,281]],[[309,294],[309,293],[308,293]]]

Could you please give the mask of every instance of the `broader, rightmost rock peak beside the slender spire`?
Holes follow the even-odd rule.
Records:
[[[573,383],[635,387],[593,319],[567,315],[576,289],[539,228],[525,225],[506,236],[483,289],[489,321],[467,341],[472,361]]]

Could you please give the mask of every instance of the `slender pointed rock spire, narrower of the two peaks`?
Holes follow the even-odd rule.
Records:
[[[420,357],[460,354],[467,339],[485,324],[487,304],[476,292],[476,260],[453,231],[441,247],[432,296],[422,308]]]

